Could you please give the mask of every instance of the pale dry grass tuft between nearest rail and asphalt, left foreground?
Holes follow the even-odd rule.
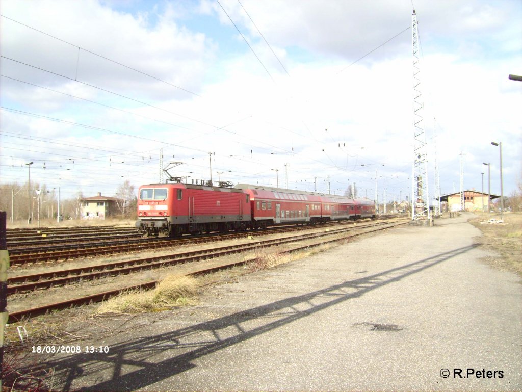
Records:
[[[168,275],[153,290],[128,291],[103,302],[96,313],[143,313],[194,305],[198,287],[192,276]]]

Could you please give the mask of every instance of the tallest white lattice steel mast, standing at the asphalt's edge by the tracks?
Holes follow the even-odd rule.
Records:
[[[417,14],[411,15],[411,43],[413,49],[413,175],[411,187],[411,219],[430,219],[428,193],[428,151],[424,134],[424,102],[420,91],[420,52]]]

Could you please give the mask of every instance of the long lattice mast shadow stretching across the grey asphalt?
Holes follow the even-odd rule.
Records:
[[[145,388],[195,367],[192,361],[204,355],[232,347],[329,306],[358,298],[386,284],[400,281],[452,257],[469,252],[477,246],[479,244],[461,247],[379,274],[335,284],[322,290],[293,296],[164,334],[124,341],[111,346],[106,356],[81,353],[46,362],[45,366],[54,367],[55,376],[62,380],[60,388],[63,391],[72,388],[74,379],[87,375],[91,379],[99,379],[100,382],[80,389],[86,392],[132,391]],[[152,357],[168,358],[153,362],[155,359]],[[151,358],[152,361],[148,361]],[[123,366],[127,369],[125,374],[122,374]],[[138,369],[128,371],[131,366]],[[106,379],[109,374],[111,378]],[[102,378],[105,378],[105,381],[102,381]]]

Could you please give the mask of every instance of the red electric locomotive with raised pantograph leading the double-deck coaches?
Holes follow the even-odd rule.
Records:
[[[138,229],[180,235],[250,227],[250,196],[241,189],[182,183],[139,187]]]

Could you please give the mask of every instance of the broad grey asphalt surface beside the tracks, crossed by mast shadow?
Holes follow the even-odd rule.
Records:
[[[467,218],[243,276],[195,307],[105,318],[121,332],[81,346],[108,354],[43,361],[63,390],[522,390],[521,281],[480,261]]]

